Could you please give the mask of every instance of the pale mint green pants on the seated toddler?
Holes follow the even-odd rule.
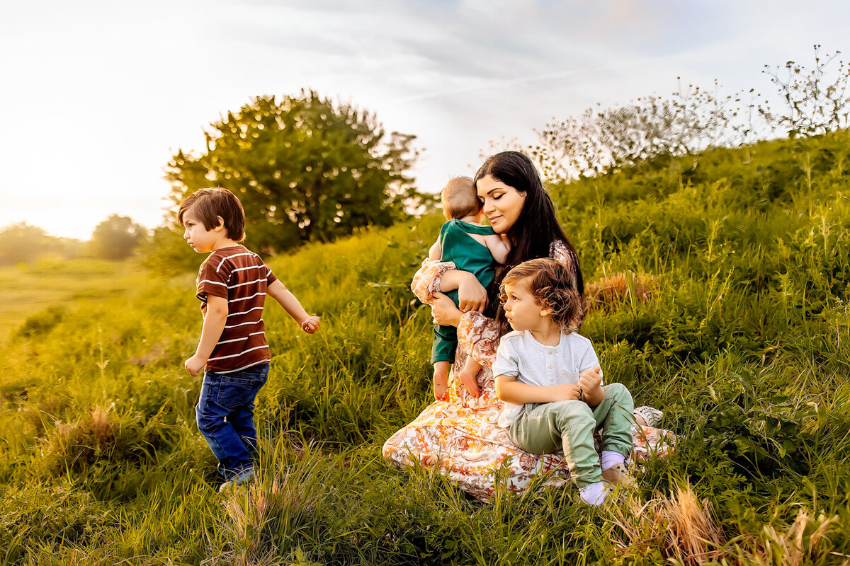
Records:
[[[602,449],[628,456],[635,408],[625,385],[609,384],[602,389],[605,398],[594,407],[584,401],[527,403],[507,433],[514,444],[532,454],[563,449],[570,475],[579,487],[602,481],[593,433],[602,428]]]

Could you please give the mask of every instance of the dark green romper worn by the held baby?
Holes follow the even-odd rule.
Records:
[[[469,234],[492,236],[496,232],[489,226],[476,226],[456,219],[447,221],[439,231],[439,251],[441,261],[453,261],[457,269],[472,273],[484,289],[493,283],[496,274],[496,261],[490,255],[490,249],[479,244]],[[445,293],[457,305],[457,291]],[[457,350],[457,328],[434,325],[431,363],[437,361],[455,361]]]

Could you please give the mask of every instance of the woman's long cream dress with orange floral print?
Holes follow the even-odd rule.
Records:
[[[574,274],[571,283],[575,288],[575,255],[558,241],[552,244],[550,257]],[[439,292],[440,277],[454,268],[451,263],[423,261],[413,277],[413,293],[422,302],[430,303],[432,293]],[[541,472],[549,473],[545,485],[564,485],[570,479],[570,472],[563,452],[536,455],[522,451],[513,444],[507,430],[496,424],[502,408],[490,370],[499,340],[496,321],[479,312],[466,312],[457,326],[457,338],[447,398],[434,401],[412,423],[390,436],[383,445],[383,456],[399,466],[415,462],[436,466],[458,487],[482,501],[493,496],[497,477],[515,492],[523,491]],[[454,378],[467,356],[473,356],[482,366],[478,398],[467,392],[460,379]],[[653,453],[664,455],[671,450],[674,436],[666,430],[636,424],[632,426],[632,439],[632,457],[643,461]]]

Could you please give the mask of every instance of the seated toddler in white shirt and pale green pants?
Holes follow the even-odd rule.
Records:
[[[499,425],[533,454],[564,450],[581,501],[604,502],[611,483],[632,484],[632,395],[603,385],[590,340],[578,331],[581,300],[570,273],[547,258],[507,273],[501,300],[513,332],[501,337],[493,363],[496,395],[505,402]],[[602,461],[593,433],[602,429]]]

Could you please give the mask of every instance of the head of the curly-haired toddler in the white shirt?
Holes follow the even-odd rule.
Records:
[[[577,332],[581,298],[569,270],[549,258],[524,261],[501,280],[500,300],[514,330],[534,330],[551,318],[561,332]]]

